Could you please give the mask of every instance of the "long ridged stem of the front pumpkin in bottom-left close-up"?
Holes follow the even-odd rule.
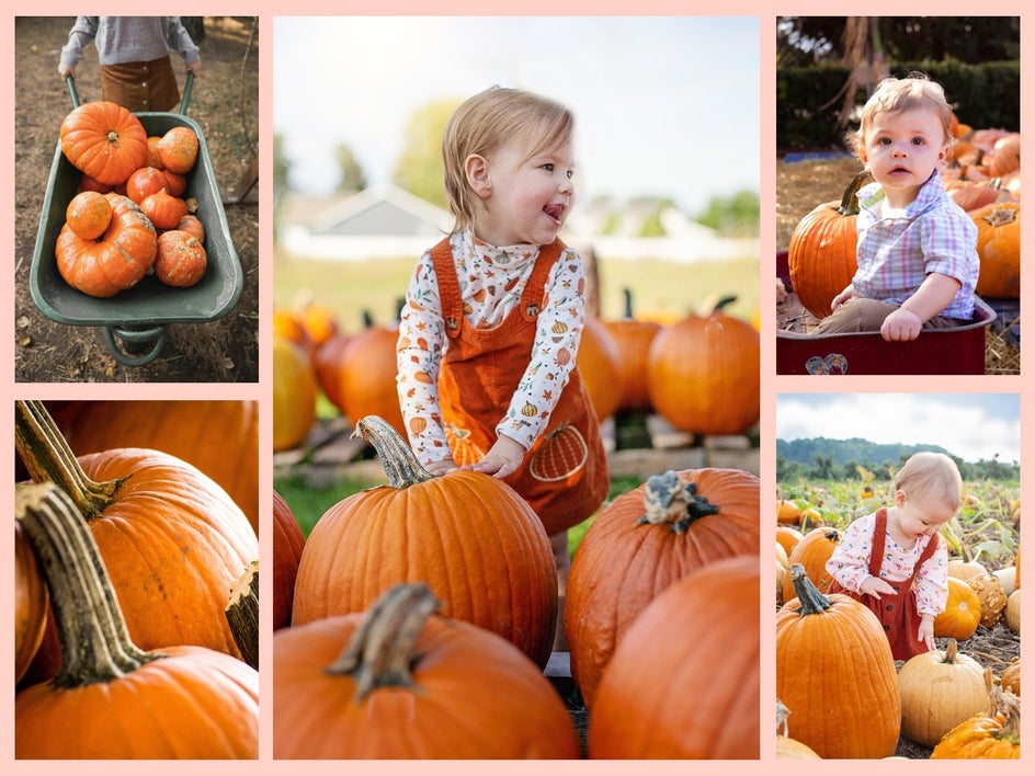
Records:
[[[101,554],[68,494],[53,482],[18,484],[14,516],[50,591],[61,644],[56,687],[110,682],[161,658],[129,638]]]

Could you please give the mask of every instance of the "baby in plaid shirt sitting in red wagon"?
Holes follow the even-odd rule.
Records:
[[[951,119],[944,91],[923,76],[886,79],[866,102],[849,136],[875,180],[858,191],[858,269],[815,333],[879,331],[906,341],[970,322],[977,227],[939,173],[954,140]]]

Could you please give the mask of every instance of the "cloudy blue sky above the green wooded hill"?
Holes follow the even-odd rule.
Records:
[[[1021,459],[1017,393],[782,393],[776,438],[935,444],[964,460]]]

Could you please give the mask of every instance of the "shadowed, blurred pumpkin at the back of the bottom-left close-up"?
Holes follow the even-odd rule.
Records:
[[[77,455],[148,447],[193,464],[218,482],[259,529],[259,402],[45,402]],[[232,455],[227,454],[228,446]]]

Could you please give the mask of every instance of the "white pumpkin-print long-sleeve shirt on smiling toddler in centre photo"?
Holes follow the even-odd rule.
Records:
[[[453,235],[450,243],[467,322],[482,329],[499,326],[521,301],[539,247],[490,246],[470,231]],[[500,408],[497,435],[505,435],[525,449],[546,429],[575,366],[576,360],[561,357],[561,351],[578,353],[584,324],[584,273],[581,256],[570,248],[554,265],[528,364],[510,404]],[[558,336],[557,331],[564,334]],[[447,340],[435,269],[428,251],[410,277],[396,351],[402,419],[410,446],[425,466],[450,457],[437,391],[439,365]],[[538,411],[534,415],[522,412],[526,404]]]

